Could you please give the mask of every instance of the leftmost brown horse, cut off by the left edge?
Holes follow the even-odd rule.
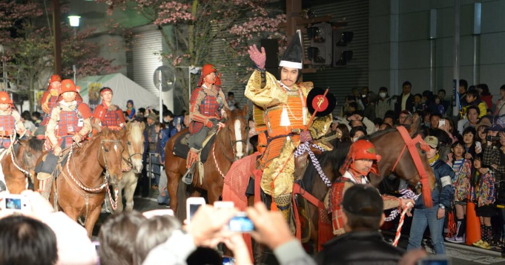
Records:
[[[37,138],[18,140],[18,142],[19,145],[15,144],[0,152],[2,156],[0,163],[6,185],[9,192],[14,194],[19,194],[26,189],[27,178],[34,176],[36,162],[44,148],[44,141]]]

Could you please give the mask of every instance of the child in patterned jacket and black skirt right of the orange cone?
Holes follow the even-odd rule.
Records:
[[[481,240],[473,243],[485,249],[491,249],[492,227],[491,217],[496,215],[496,210],[493,207],[495,201],[494,175],[492,171],[482,165],[482,153],[479,153],[474,158],[474,170],[472,173],[475,192],[472,192],[472,201],[475,202],[475,213],[480,220]]]

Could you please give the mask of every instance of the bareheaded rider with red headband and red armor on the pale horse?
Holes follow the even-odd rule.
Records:
[[[111,102],[112,95],[110,87],[100,89],[102,104],[97,105],[93,113],[93,128],[98,132],[101,132],[102,128],[106,126],[115,131],[119,131],[125,126],[123,110]]]

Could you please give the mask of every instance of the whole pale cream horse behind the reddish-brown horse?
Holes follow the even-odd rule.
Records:
[[[126,148],[122,154],[121,168],[127,169],[123,171],[123,178],[117,185],[112,185],[118,189],[118,199],[116,201],[117,208],[113,208],[113,213],[121,213],[123,211],[123,190],[126,198],[125,210],[130,212],[133,210],[133,193],[137,187],[139,174],[142,172],[142,154],[144,153],[144,129],[143,122],[128,122],[126,124],[126,133],[122,140]],[[106,201],[105,203],[109,203]]]

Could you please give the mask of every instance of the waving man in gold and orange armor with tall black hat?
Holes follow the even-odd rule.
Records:
[[[271,208],[280,210],[286,221],[291,223],[294,151],[301,142],[323,137],[330,128],[331,114],[317,117],[308,124],[311,116],[306,100],[314,85],[312,82],[296,83],[303,66],[299,33],[293,36],[279,63],[280,80],[266,71],[264,48],[260,51],[254,45],[249,47],[248,52],[256,69],[247,82],[244,94],[254,103],[253,115],[259,133],[259,151],[262,152],[260,185],[273,199]],[[306,127],[308,130],[305,130]]]

